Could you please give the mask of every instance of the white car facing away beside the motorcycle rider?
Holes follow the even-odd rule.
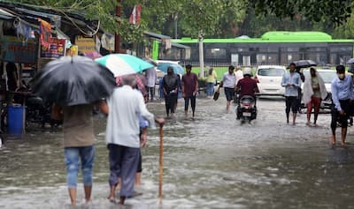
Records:
[[[281,86],[281,78],[285,72],[285,66],[259,65],[255,73],[259,94],[283,96],[285,89]]]

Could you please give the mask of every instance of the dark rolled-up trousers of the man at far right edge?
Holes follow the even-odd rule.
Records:
[[[337,122],[341,123],[342,128],[347,128],[348,127],[348,118],[350,116],[350,100],[344,100],[344,101],[339,101],[341,104],[342,110],[344,110],[344,115],[339,114],[339,111],[335,108],[335,105],[332,105],[331,109],[331,115],[332,115],[332,120],[331,120],[331,129],[332,129],[332,134],[335,135],[335,129],[337,127]]]

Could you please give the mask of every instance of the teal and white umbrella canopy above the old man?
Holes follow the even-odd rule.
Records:
[[[143,61],[141,58],[127,54],[111,54],[97,58],[95,61],[112,71],[114,77],[133,74],[154,67],[154,65]]]

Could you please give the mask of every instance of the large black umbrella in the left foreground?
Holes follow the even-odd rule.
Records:
[[[61,106],[89,104],[109,96],[115,86],[111,71],[85,56],[62,56],[35,75],[32,92]]]

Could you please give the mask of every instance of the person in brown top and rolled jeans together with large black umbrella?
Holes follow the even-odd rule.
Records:
[[[84,56],[63,56],[35,75],[32,92],[56,104],[52,111],[54,119],[63,117],[67,186],[72,205],[76,205],[80,164],[85,199],[91,200],[95,158],[92,104],[109,96],[114,86],[112,73]]]

